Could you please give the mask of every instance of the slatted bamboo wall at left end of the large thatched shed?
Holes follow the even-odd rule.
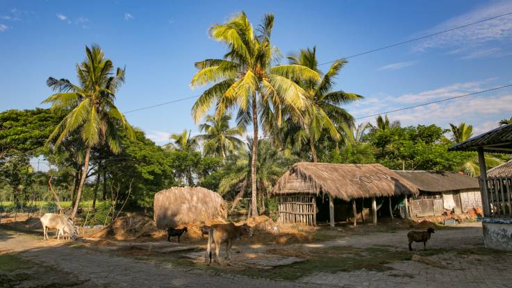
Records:
[[[279,223],[305,223],[316,225],[315,196],[279,196]]]

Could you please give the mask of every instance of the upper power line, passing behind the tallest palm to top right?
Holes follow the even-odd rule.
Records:
[[[490,20],[498,19],[500,17],[504,17],[504,16],[507,16],[507,15],[512,15],[512,12],[506,12],[504,14],[497,15],[497,16],[490,17],[490,18],[486,18],[486,19],[483,19],[483,20],[480,20],[480,21],[477,21],[477,22],[472,22],[472,23],[469,23],[469,24],[465,24],[465,25],[462,25],[462,26],[457,26],[457,27],[454,27],[454,28],[450,28],[450,29],[447,29],[447,30],[439,31],[439,32],[432,33],[432,34],[429,34],[429,35],[424,35],[422,37],[414,38],[414,39],[411,39],[411,40],[406,40],[406,41],[398,42],[398,43],[395,43],[395,44],[390,44],[390,45],[387,45],[387,46],[382,46],[382,47],[379,47],[379,48],[376,48],[376,49],[372,49],[372,50],[368,50],[368,51],[363,51],[361,53],[357,53],[357,54],[354,54],[354,55],[351,55],[351,56],[347,56],[347,57],[344,57],[344,58],[340,58],[340,59],[349,59],[349,58],[355,58],[355,57],[358,57],[358,56],[363,56],[363,55],[374,53],[374,52],[381,51],[381,50],[384,50],[384,49],[392,48],[392,47],[403,45],[403,44],[408,44],[408,43],[415,42],[415,41],[418,41],[418,40],[422,40],[422,39],[426,39],[426,38],[429,38],[429,37],[437,36],[437,35],[440,35],[440,34],[443,34],[443,33],[448,33],[448,32],[451,32],[451,31],[455,31],[457,29],[461,29],[461,28],[465,28],[465,27],[468,27],[468,26],[472,26],[472,25],[483,23],[483,22],[487,22],[487,21],[490,21]],[[336,61],[338,61],[340,59],[332,60],[332,61],[329,61],[329,62],[324,62],[324,63],[319,64],[318,66],[327,65],[327,64],[336,62]],[[156,105],[151,105],[151,106],[146,106],[146,107],[142,107],[142,108],[138,108],[138,109],[129,110],[129,111],[126,111],[124,113],[131,113],[131,112],[136,112],[136,111],[140,111],[140,110],[147,110],[147,109],[156,108],[156,107],[159,107],[159,106],[168,105],[168,104],[171,104],[171,103],[176,103],[176,102],[185,101],[185,100],[188,100],[188,99],[195,99],[195,98],[199,98],[199,96],[188,96],[188,97],[181,98],[181,99],[176,99],[176,100],[173,100],[173,101],[168,101],[168,102],[159,103],[159,104],[156,104]]]

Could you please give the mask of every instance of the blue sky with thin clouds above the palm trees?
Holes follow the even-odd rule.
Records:
[[[254,24],[276,20],[281,52],[317,46],[320,62],[512,12],[512,1],[0,1],[0,110],[44,107],[49,76],[75,81],[85,45],[99,44],[126,84],[117,105],[128,111],[199,95],[193,63],[219,58],[211,24],[240,10]],[[355,117],[512,83],[512,15],[477,26],[352,58],[338,89],[366,97],[347,109]],[[328,69],[328,65],[323,67]],[[197,132],[193,100],[129,113],[157,144],[184,128]],[[512,116],[512,89],[389,115],[404,125],[466,121],[475,133]],[[367,119],[373,121],[373,118]]]

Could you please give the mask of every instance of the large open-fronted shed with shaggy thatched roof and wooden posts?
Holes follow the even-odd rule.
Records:
[[[302,222],[316,225],[320,203],[329,198],[329,222],[334,226],[336,201],[352,202],[356,225],[356,199],[372,199],[372,221],[377,223],[376,198],[404,197],[418,189],[395,171],[381,164],[330,164],[299,162],[286,171],[274,185],[272,193],[279,196],[281,223]],[[390,207],[391,207],[391,202]]]

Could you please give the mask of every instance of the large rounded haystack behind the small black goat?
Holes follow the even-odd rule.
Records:
[[[153,207],[159,229],[226,218],[226,203],[222,196],[203,187],[162,190],[155,194]]]

